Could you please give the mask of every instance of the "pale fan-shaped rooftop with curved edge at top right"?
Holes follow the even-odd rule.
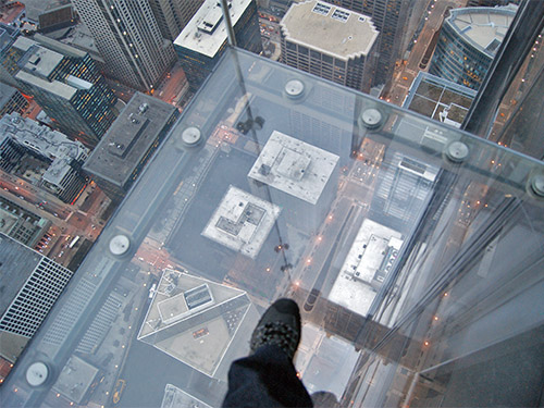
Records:
[[[446,23],[478,50],[495,57],[516,15],[517,5],[465,8],[450,11]]]

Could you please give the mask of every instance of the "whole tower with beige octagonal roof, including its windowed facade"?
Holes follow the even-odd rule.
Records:
[[[293,4],[281,22],[282,61],[350,88],[369,91],[373,46],[372,20],[321,1]]]

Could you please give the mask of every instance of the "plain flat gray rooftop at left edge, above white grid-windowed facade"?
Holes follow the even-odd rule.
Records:
[[[0,234],[0,317],[44,258],[35,250]]]

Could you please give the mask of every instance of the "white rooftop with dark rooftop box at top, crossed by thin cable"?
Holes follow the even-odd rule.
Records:
[[[251,1],[254,0],[228,0],[233,26],[236,25]],[[226,38],[226,25],[220,2],[206,0],[174,40],[174,46],[213,58]]]

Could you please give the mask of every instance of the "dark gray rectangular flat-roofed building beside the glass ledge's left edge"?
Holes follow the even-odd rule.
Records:
[[[170,103],[136,92],[83,169],[120,202],[176,121]]]

